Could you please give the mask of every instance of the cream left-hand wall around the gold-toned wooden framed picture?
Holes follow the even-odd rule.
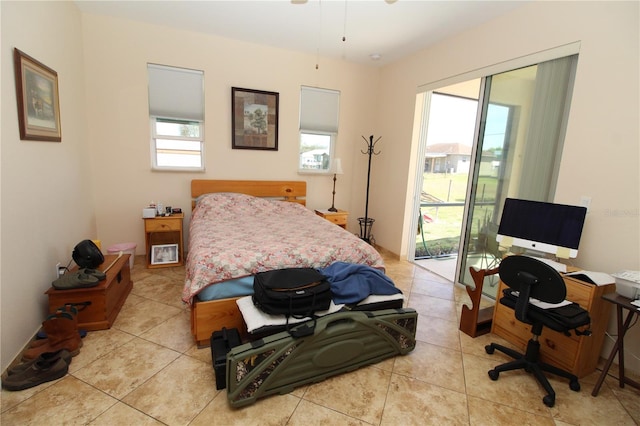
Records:
[[[1,12],[0,366],[40,327],[55,264],[94,238],[80,15],[72,3],[7,2]],[[58,73],[62,143],[21,141],[13,49]]]

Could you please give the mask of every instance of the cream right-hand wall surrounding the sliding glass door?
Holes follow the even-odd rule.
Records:
[[[379,244],[407,250],[410,230],[402,219],[411,215],[417,87],[576,41],[581,48],[555,200],[578,204],[580,196],[592,197],[576,265],[640,270],[638,2],[532,2],[385,67],[377,121],[393,149],[377,159],[372,178]],[[610,331],[615,334],[613,326]],[[636,356],[639,337],[636,328],[627,338]],[[637,358],[627,360],[640,371]]]

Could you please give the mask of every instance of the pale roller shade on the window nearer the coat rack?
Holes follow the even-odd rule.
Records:
[[[302,86],[300,129],[336,133],[340,113],[340,92]]]

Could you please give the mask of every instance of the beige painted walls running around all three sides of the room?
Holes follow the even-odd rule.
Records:
[[[80,16],[68,2],[1,8],[2,368],[42,321],[53,265],[68,261],[77,241],[134,241],[142,253],[140,209],[154,200],[188,212],[193,178],[304,179],[308,206],[328,207],[332,180],[296,173],[300,85],[342,93],[337,155],[345,175],[336,206],[351,211],[356,233],[366,186],[362,136],[382,136],[370,216],[376,241],[404,253],[417,87],[574,41],[581,51],[556,199],[593,198],[578,264],[640,269],[637,3],[533,2],[381,70],[329,59],[315,70],[315,55]],[[62,144],[19,140],[14,46],[60,75]],[[147,62],[204,70],[206,173],[150,171]],[[232,86],[280,93],[279,151],[231,149]]]

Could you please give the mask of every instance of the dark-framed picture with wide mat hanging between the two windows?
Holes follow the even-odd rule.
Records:
[[[279,94],[231,88],[231,147],[278,150]]]

